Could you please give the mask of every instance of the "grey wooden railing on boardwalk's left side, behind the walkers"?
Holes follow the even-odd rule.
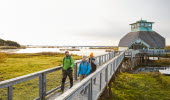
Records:
[[[95,58],[99,60],[99,65],[102,65],[103,63],[106,63],[107,61],[109,61],[113,57],[114,57],[114,51],[109,52],[109,53],[104,54],[104,55],[96,56]],[[77,80],[77,77],[78,77],[78,73],[77,73],[78,63],[80,63],[80,61],[76,61],[75,67],[74,67],[74,72],[75,72],[74,73],[74,79],[75,80]],[[38,72],[35,72],[35,73],[19,76],[19,77],[12,78],[12,79],[9,79],[9,80],[1,81],[0,82],[0,89],[8,87],[8,100],[12,100],[13,85],[18,84],[18,83],[22,83],[22,82],[27,81],[27,80],[34,79],[36,77],[39,77],[39,97],[38,97],[38,99],[43,100],[51,92],[58,89],[58,87],[57,87],[55,89],[52,89],[52,90],[46,92],[46,74],[54,72],[54,71],[58,71],[58,70],[61,70],[61,69],[62,69],[62,66],[58,66],[58,67],[38,71]]]

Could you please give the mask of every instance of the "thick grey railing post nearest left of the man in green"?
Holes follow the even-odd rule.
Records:
[[[41,76],[39,77],[39,95],[40,95],[40,100],[45,100],[46,96],[46,74],[42,73]]]

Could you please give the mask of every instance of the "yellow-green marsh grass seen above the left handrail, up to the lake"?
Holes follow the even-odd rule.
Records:
[[[33,72],[57,67],[62,64],[64,54],[35,53],[35,54],[6,54],[7,58],[0,63],[0,80],[30,74]],[[80,59],[80,56],[72,55]]]

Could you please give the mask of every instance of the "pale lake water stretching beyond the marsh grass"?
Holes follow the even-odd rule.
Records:
[[[26,48],[26,49],[4,49],[0,52],[6,53],[40,53],[40,52],[59,52],[64,53],[65,51],[60,51],[60,49],[65,48]],[[68,48],[66,48],[68,49]],[[77,49],[77,48],[76,48]],[[94,53],[95,56],[106,54],[105,49],[89,49],[88,47],[78,48],[80,51],[69,51],[71,54],[86,55],[89,56],[90,53]]]

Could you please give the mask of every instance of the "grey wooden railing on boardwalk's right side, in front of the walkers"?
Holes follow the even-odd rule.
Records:
[[[55,100],[97,100],[124,57],[124,52],[121,52]]]

